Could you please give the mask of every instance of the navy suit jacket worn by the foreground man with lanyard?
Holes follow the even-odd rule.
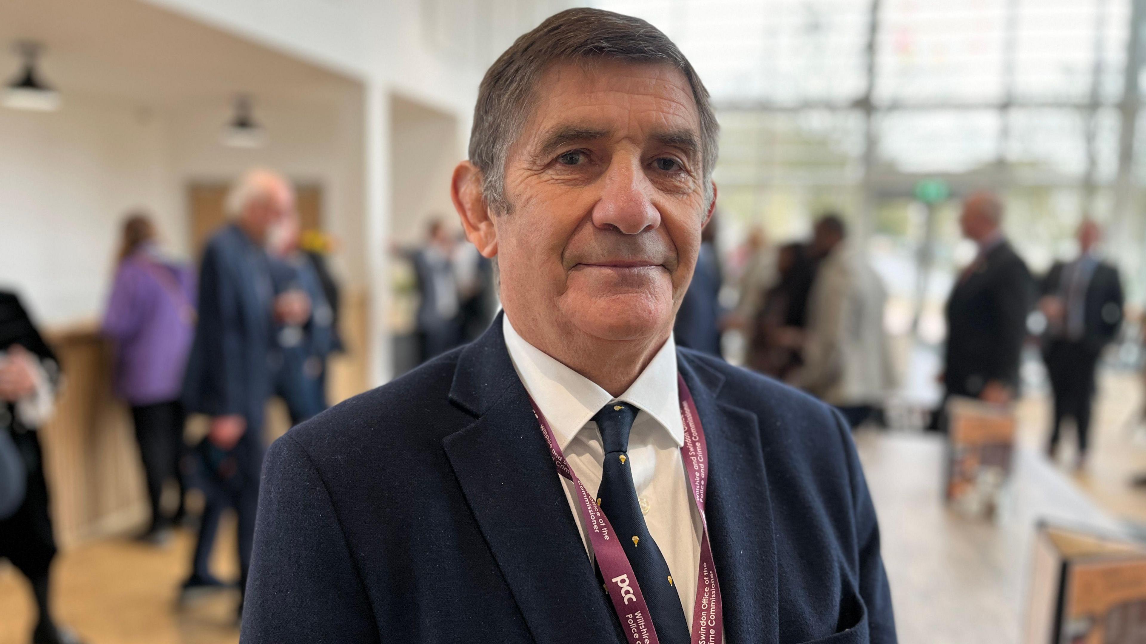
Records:
[[[711,453],[729,643],[895,642],[842,418],[680,350]],[[625,642],[502,336],[292,429],[261,485],[242,641]]]

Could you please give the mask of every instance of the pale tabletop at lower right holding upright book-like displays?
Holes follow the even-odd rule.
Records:
[[[1015,451],[998,516],[987,520],[943,504],[941,437],[861,432],[856,445],[905,644],[1018,644],[1036,523],[1125,532],[1044,456],[1026,448]]]

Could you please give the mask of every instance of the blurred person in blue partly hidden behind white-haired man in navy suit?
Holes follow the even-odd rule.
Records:
[[[333,351],[333,312],[327,303],[322,280],[311,257],[299,249],[298,215],[283,218],[272,241],[270,262],[275,292],[305,297],[311,315],[301,324],[278,314],[275,338],[282,364],[275,378],[275,392],[286,403],[290,422],[297,425],[327,408],[327,356]]]

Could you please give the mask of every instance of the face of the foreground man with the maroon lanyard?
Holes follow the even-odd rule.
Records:
[[[700,119],[676,69],[559,64],[541,78],[494,217],[511,320],[605,340],[666,333],[707,218]]]

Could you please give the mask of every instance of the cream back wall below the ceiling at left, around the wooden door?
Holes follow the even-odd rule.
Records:
[[[322,184],[324,225],[345,242],[335,270],[364,283],[361,105],[259,105],[257,150],[220,143],[229,116],[214,101],[163,111],[73,95],[54,113],[0,109],[0,285],[49,325],[96,319],[127,210],[151,212],[187,258],[188,183],[253,166]]]

